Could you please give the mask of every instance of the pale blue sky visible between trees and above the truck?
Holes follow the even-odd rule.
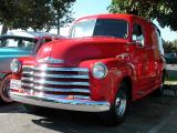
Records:
[[[100,13],[108,13],[107,7],[111,4],[111,0],[76,0],[73,6],[73,18],[79,19],[81,17],[91,16],[91,14],[100,14]],[[166,41],[173,41],[177,39],[177,31],[171,32],[168,28],[162,29],[159,24],[155,21],[155,24],[160,29],[162,37]],[[67,35],[67,28],[61,29],[62,35]],[[1,27],[0,27],[1,30]],[[51,32],[56,33],[56,30],[52,30]]]

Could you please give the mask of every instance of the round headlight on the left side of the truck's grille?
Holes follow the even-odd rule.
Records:
[[[17,59],[13,59],[10,63],[10,70],[14,73],[20,72],[21,63]]]

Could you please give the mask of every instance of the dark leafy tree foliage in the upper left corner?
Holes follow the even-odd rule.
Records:
[[[9,29],[50,30],[71,22],[75,0],[0,0],[0,22]]]

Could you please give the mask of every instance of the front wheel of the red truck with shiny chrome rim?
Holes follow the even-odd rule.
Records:
[[[127,110],[127,85],[123,82],[110,111],[102,113],[102,119],[104,119],[106,125],[117,125],[124,121]]]

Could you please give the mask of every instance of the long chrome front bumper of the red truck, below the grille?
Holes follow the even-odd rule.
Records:
[[[69,100],[64,96],[49,95],[29,95],[23,93],[10,92],[10,98],[17,102],[72,111],[83,112],[105,112],[110,110],[110,103],[106,101],[92,101],[84,99]]]

